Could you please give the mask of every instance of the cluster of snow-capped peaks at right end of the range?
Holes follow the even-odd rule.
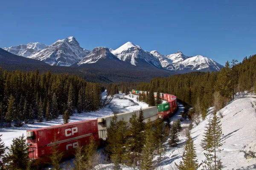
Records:
[[[151,51],[151,54],[159,59],[164,69],[177,72],[191,71],[219,71],[223,66],[212,59],[197,55],[195,57],[185,56],[181,51],[175,54],[163,55],[157,51]]]

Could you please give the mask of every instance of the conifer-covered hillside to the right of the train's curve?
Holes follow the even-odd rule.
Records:
[[[245,57],[239,64],[236,59],[232,62],[227,61],[225,67],[218,72],[193,72],[154,78],[150,83],[118,83],[106,87],[124,92],[131,89],[141,91],[153,89],[153,91],[174,94],[188,105],[195,106],[199,103],[205,110],[212,106],[212,95],[215,91],[220,92],[222,102],[225,103],[237,92],[256,89],[256,55]]]

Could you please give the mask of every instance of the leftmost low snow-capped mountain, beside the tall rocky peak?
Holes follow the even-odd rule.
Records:
[[[22,57],[30,57],[38,53],[39,51],[43,50],[46,47],[47,45],[39,42],[29,42],[26,45],[20,44],[17,46],[12,46],[12,47],[3,48],[3,49],[15,55],[19,55]]]

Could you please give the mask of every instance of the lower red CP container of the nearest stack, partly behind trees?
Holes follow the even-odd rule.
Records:
[[[74,148],[80,146],[84,146],[86,144],[89,143],[90,141],[90,136],[79,136],[77,139],[72,139],[72,140],[68,140],[68,141],[58,141],[56,142],[56,144],[58,145],[58,151],[59,152],[66,152],[65,156],[71,156],[73,153],[68,154],[68,150],[73,150]],[[99,140],[99,134],[98,133],[94,133],[93,137],[95,140]],[[48,146],[45,147],[38,147],[38,148],[34,148],[34,147],[30,147],[30,151],[34,151],[32,153],[29,154],[29,158],[31,159],[36,159],[36,158],[40,158],[42,156],[49,156],[52,155],[52,145],[53,144],[49,144]]]

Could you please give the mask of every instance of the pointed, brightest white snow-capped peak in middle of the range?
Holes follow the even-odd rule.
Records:
[[[139,66],[141,63],[150,64],[157,68],[162,68],[161,63],[148,51],[144,51],[139,45],[126,42],[116,50],[111,51],[120,60]]]

